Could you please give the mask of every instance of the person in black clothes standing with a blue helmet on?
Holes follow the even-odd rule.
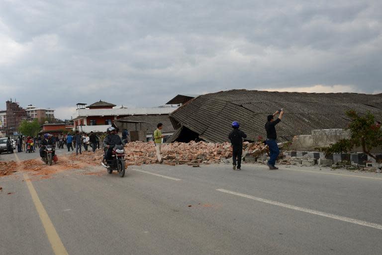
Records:
[[[233,130],[228,135],[228,139],[231,141],[232,145],[232,164],[233,170],[236,170],[236,160],[237,160],[237,170],[241,170],[241,157],[243,155],[243,138],[247,138],[247,135],[239,129],[240,124],[237,121],[232,122]]]

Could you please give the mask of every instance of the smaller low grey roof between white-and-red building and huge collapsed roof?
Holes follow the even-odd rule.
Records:
[[[126,121],[135,121],[135,122],[126,122]],[[147,134],[151,134],[157,129],[157,124],[162,123],[163,129],[162,133],[173,133],[175,129],[171,124],[168,114],[158,114],[158,115],[137,115],[137,116],[129,116],[115,120],[115,124],[119,127],[120,130],[122,128],[126,128],[129,131],[136,129],[146,131]]]

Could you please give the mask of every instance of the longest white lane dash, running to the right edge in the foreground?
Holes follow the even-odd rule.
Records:
[[[280,203],[280,202],[277,202],[277,201],[272,201],[272,200],[268,200],[268,199],[264,199],[264,198],[260,198],[260,197],[256,197],[256,196],[251,196],[251,195],[247,195],[247,194],[243,194],[243,193],[239,193],[239,192],[235,192],[235,191],[230,191],[230,190],[223,189],[223,188],[218,188],[216,190],[224,192],[224,193],[232,194],[232,195],[237,195],[237,196],[249,198],[249,199],[252,199],[252,200],[255,200],[255,201],[258,201],[258,202],[263,202],[263,203],[267,203],[267,204],[277,205],[277,206],[285,207],[285,208],[296,210],[296,211],[300,211],[300,212],[306,212],[306,213],[310,213],[310,214],[315,214],[315,215],[323,216],[323,217],[326,217],[326,218],[331,218],[331,219],[335,219],[335,220],[339,220],[339,221],[350,222],[350,223],[358,224],[358,225],[361,225],[361,226],[365,226],[365,227],[370,227],[370,228],[382,230],[382,225],[379,225],[379,224],[376,224],[376,223],[372,223],[372,222],[361,221],[361,220],[356,220],[356,219],[352,219],[352,218],[348,218],[348,217],[343,217],[343,216],[339,216],[339,215],[335,215],[335,214],[331,214],[331,213],[315,211],[315,210],[311,210],[311,209],[307,209],[307,208],[303,208],[303,207],[298,207],[298,206],[294,206],[294,205],[290,205],[290,204],[285,204],[285,203]]]

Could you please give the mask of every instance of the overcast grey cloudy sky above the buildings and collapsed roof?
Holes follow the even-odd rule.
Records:
[[[382,1],[0,1],[0,109],[233,88],[381,93]]]

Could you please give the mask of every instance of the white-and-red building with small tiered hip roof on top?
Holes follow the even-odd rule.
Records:
[[[115,120],[133,115],[169,114],[178,107],[114,108],[116,105],[99,100],[91,105],[78,103],[73,116],[74,128],[81,132],[106,132]]]

